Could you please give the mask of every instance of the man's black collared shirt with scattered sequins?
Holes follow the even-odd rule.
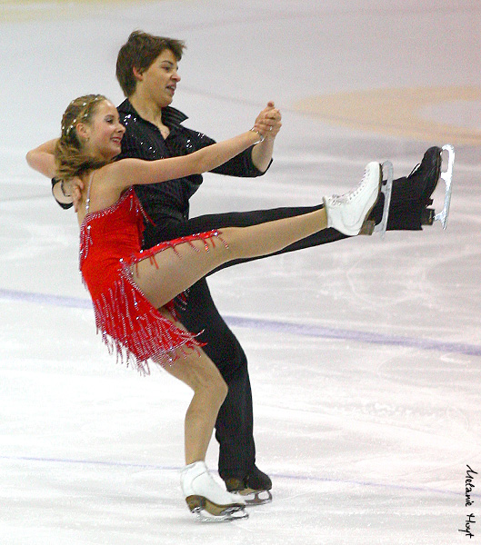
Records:
[[[128,100],[118,107],[120,121],[125,125],[122,140],[122,154],[119,159],[135,157],[153,161],[165,157],[191,154],[201,148],[215,144],[215,140],[205,134],[185,128],[182,122],[187,116],[171,106],[162,111],[162,122],[169,128],[170,134],[164,138],[155,124],[145,121]],[[252,162],[252,147],[236,155],[227,163],[217,167],[214,173],[230,176],[256,177],[263,173]],[[189,199],[202,183],[201,174],[150,185],[136,185],[137,193],[146,213],[155,217],[165,210],[188,214]]]

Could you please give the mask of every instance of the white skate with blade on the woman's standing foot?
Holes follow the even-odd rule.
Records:
[[[195,461],[182,470],[180,484],[189,509],[203,522],[246,519],[246,502],[215,482],[204,461]]]

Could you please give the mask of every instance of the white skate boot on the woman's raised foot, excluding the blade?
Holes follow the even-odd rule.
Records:
[[[344,195],[324,197],[327,227],[355,236],[361,231],[363,223],[376,204],[383,182],[383,172],[379,163],[368,163],[364,177],[354,189]]]

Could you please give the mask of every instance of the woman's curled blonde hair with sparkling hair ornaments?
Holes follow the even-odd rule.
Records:
[[[56,177],[68,180],[110,163],[85,154],[76,132],[77,124],[92,123],[98,104],[105,100],[103,94],[85,94],[68,104],[62,117],[62,134],[55,145]]]

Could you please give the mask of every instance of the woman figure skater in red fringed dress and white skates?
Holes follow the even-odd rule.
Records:
[[[114,162],[125,127],[105,96],[85,95],[67,107],[54,157],[29,152],[27,161],[45,172],[83,184],[77,209],[80,224],[80,270],[95,310],[97,329],[117,358],[148,373],[147,360],[194,391],[185,415],[185,469],[181,486],[190,510],[206,510],[215,520],[246,517],[245,501],[222,489],[205,466],[205,453],[227,387],[214,363],[175,321],[172,301],[206,273],[235,259],[274,253],[334,227],[356,235],[378,198],[382,172],[369,163],[362,182],[345,195],[325,197],[316,212],[198,233],[141,252],[144,213],[134,184],[159,183],[210,171],[261,141],[273,126],[276,111],[266,108],[250,131],[181,157]],[[43,165],[39,168],[39,165]],[[48,170],[48,169],[47,169]],[[148,221],[148,218],[147,218]],[[188,304],[188,302],[187,302]]]

